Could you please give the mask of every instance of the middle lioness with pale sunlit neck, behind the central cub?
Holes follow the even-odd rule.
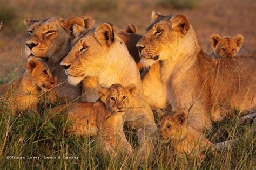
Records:
[[[77,85],[85,77],[91,77],[96,80],[95,86],[110,87],[116,83],[127,86],[133,83],[137,87],[138,103],[125,121],[138,118],[130,124],[138,129],[141,144],[145,140],[153,140],[152,132],[157,129],[153,113],[144,101],[139,70],[123,40],[106,23],[75,34],[77,37],[73,41],[72,49],[61,63],[68,74],[69,82]]]

